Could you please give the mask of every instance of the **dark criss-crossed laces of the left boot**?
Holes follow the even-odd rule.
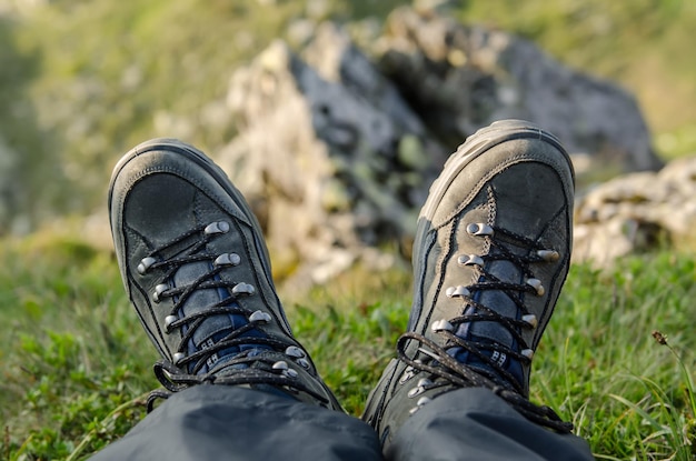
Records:
[[[251,311],[239,302],[242,298],[255,294],[255,287],[243,282],[227,281],[219,277],[226,268],[240,264],[241,258],[236,253],[216,254],[206,251],[207,244],[220,234],[227,233],[230,224],[226,221],[212,222],[197,227],[176,239],[156,248],[146,255],[138,265],[142,275],[153,270],[161,270],[161,281],[152,293],[152,300],[159,304],[166,298],[172,298],[173,305],[165,319],[167,334],[177,329],[183,332],[173,354],[173,361],[162,359],[155,363],[156,378],[166,390],[156,390],[148,398],[148,412],[152,410],[157,399],[167,399],[172,392],[202,383],[225,385],[267,384],[281,389],[286,393],[306,392],[322,404],[328,403],[326,397],[315,392],[298,380],[298,372],[288,367],[287,361],[278,360],[280,352],[289,360],[295,360],[301,368],[309,370],[307,353],[286,338],[275,338],[262,331],[262,327],[272,321],[271,315],[264,310]],[[190,243],[192,240],[192,243]],[[166,257],[165,253],[175,251],[176,254]],[[190,283],[181,287],[171,287],[169,281],[179,268],[195,262],[208,262],[209,270],[203,271]],[[197,291],[203,289],[223,289],[229,297],[210,305],[183,315],[182,307]],[[241,325],[229,327],[225,335],[218,340],[206,340],[198,350],[186,353],[187,345],[193,338],[196,330],[208,319],[229,314],[243,318]],[[218,359],[218,353],[232,351],[231,358],[226,357],[223,374],[209,369]],[[219,371],[220,368],[218,368]],[[186,372],[183,371],[186,370]]]

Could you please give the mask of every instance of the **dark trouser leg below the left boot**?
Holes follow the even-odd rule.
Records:
[[[381,460],[377,434],[348,414],[223,385],[178,392],[93,460]]]

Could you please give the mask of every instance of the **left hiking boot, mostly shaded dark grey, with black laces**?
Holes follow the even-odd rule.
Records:
[[[109,212],[165,388],[241,385],[340,410],[292,337],[256,218],[202,152],[172,139],[136,147],[116,166]]]

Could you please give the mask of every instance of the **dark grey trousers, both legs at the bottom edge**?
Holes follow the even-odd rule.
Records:
[[[587,443],[543,429],[486,389],[460,389],[409,418],[382,455],[348,414],[272,393],[196,385],[170,397],[92,460],[593,460]]]

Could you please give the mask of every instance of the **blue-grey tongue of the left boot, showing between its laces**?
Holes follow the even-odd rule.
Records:
[[[207,261],[192,262],[179,268],[172,277],[175,287],[186,287],[196,282],[201,274],[208,273],[212,270],[211,265]],[[216,275],[216,279],[217,275]],[[215,280],[215,279],[211,279]],[[192,315],[198,312],[208,310],[211,305],[217,304],[219,301],[230,298],[229,291],[226,288],[206,288],[195,290],[187,300],[182,303],[177,315],[179,318]],[[236,302],[230,302],[228,305],[235,307]],[[200,322],[200,324],[193,331],[191,339],[187,343],[187,353],[191,354],[201,349],[208,349],[225,337],[227,337],[233,330],[243,327],[249,321],[242,314],[222,313],[207,317]],[[182,334],[186,334],[189,325],[182,327]],[[242,334],[242,337],[264,337],[258,330],[250,330]],[[206,364],[198,371],[198,374],[207,373],[215,365],[219,368],[225,361],[231,360],[241,351],[248,349],[261,349],[259,344],[241,344],[221,351],[212,353],[207,360]],[[195,363],[189,365],[189,372],[192,371]]]

